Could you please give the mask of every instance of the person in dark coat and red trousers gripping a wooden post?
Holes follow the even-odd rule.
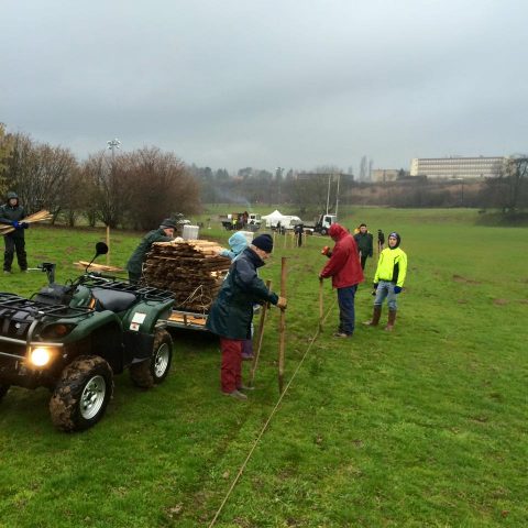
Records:
[[[241,392],[249,388],[242,383],[242,345],[251,338],[253,305],[271,302],[282,310],[287,305],[284,297],[266,288],[256,273],[272,250],[272,237],[260,234],[232,261],[206,322],[206,328],[220,338],[221,391],[237,399],[248,399]]]

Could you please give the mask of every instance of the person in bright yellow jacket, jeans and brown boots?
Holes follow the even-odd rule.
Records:
[[[380,254],[376,274],[374,275],[374,311],[372,319],[366,321],[369,327],[377,327],[382,316],[382,305],[387,299],[388,321],[385,330],[391,332],[396,321],[396,297],[402,293],[407,275],[407,255],[399,246],[402,238],[394,231],[388,235],[388,248]]]

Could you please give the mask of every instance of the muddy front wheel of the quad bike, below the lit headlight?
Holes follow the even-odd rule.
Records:
[[[95,426],[105,414],[113,393],[113,373],[99,356],[81,355],[61,375],[50,413],[63,431],[81,431]]]

